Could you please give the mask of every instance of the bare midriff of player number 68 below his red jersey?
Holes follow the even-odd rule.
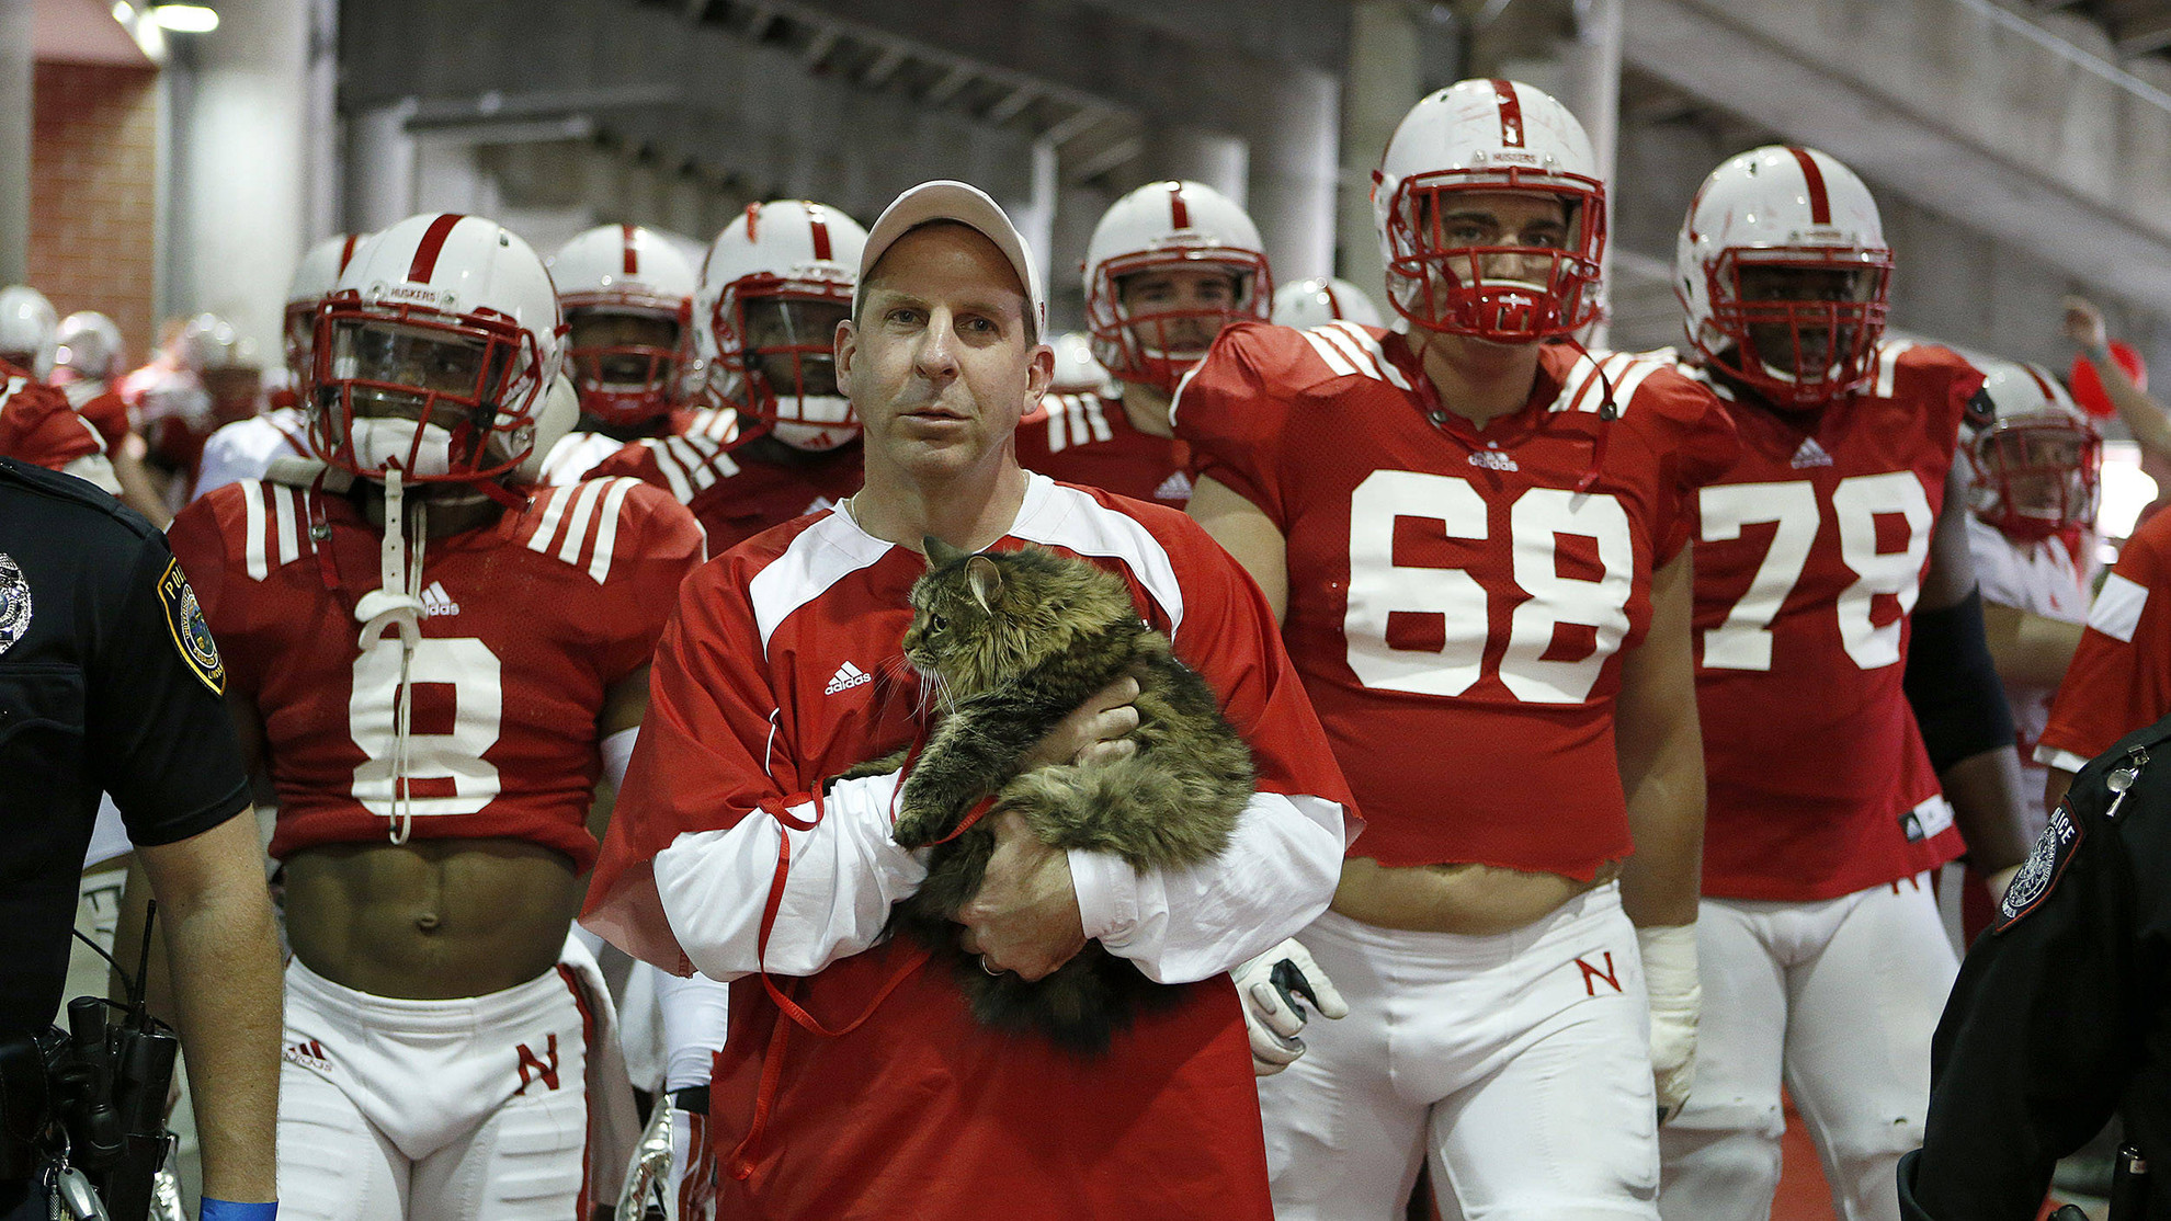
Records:
[[[1379,928],[1485,937],[1513,933],[1617,876],[1615,861],[1594,878],[1570,878],[1505,865],[1381,865],[1350,857],[1342,861],[1333,909]]]

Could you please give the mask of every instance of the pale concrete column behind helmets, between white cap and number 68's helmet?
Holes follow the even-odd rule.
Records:
[[[1259,223],[1274,284],[1335,269],[1335,178],[1342,150],[1342,87],[1307,67],[1277,65],[1270,80],[1240,82],[1257,106],[1240,113],[1250,147],[1244,210]]]

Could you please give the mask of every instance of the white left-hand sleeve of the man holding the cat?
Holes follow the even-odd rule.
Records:
[[[753,811],[725,831],[680,835],[656,854],[656,896],[686,961],[703,976],[734,980],[766,969],[812,976],[881,939],[890,907],[914,894],[927,865],[890,837],[897,772],[838,781],[814,805],[788,813],[812,831],[786,831]],[[762,946],[762,913],[790,835],[790,872]]]

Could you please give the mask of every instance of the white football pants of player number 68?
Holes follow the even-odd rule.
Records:
[[[1620,887],[1491,937],[1329,911],[1298,937],[1350,1015],[1259,1078],[1279,1221],[1656,1219],[1650,1002]]]

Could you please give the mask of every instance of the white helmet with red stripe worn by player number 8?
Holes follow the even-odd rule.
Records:
[[[564,323],[512,230],[419,215],[371,239],[317,314],[310,442],[363,479],[478,481],[534,449]]]

